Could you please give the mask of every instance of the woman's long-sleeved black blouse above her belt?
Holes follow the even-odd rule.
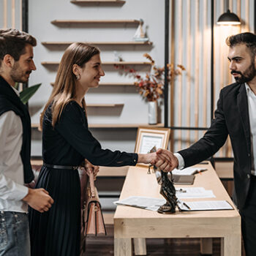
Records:
[[[136,165],[138,154],[102,149],[88,129],[86,113],[77,102],[69,102],[55,128],[51,105],[42,123],[42,159],[50,165],[80,165],[88,159],[93,165]]]

